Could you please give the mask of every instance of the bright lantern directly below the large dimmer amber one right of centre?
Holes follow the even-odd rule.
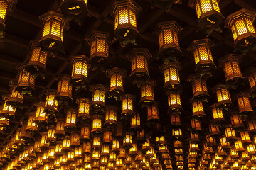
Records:
[[[165,62],[160,67],[161,72],[164,73],[164,88],[167,90],[174,90],[181,88],[178,71],[181,69],[179,62]]]

